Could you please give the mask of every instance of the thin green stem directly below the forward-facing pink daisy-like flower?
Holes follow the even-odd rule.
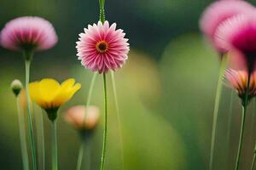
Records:
[[[103,133],[103,144],[102,144],[102,162],[100,170],[103,169],[106,156],[106,145],[107,145],[107,134],[108,134],[108,94],[107,94],[107,81],[106,73],[103,73],[103,85],[104,85],[104,108],[105,108],[105,123]]]

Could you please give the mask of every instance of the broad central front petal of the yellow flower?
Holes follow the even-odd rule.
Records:
[[[56,82],[54,79],[43,79],[41,82],[39,82],[40,98],[46,103],[50,102],[52,99],[54,99],[59,88],[60,83]]]

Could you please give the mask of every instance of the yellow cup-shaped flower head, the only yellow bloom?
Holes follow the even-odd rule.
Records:
[[[32,101],[35,101],[49,115],[71,99],[80,88],[81,84],[75,83],[73,78],[67,79],[61,84],[49,78],[29,84]]]

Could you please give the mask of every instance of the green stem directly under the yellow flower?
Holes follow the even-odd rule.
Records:
[[[57,122],[54,120],[52,122],[51,131],[51,159],[52,159],[52,170],[58,169],[58,146],[57,146]]]

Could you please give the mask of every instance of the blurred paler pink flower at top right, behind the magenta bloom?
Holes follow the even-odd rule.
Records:
[[[253,5],[241,0],[220,0],[212,3],[202,14],[201,31],[212,41],[220,53],[225,53],[224,48],[219,47],[214,41],[214,34],[218,26],[236,14],[253,10]]]

